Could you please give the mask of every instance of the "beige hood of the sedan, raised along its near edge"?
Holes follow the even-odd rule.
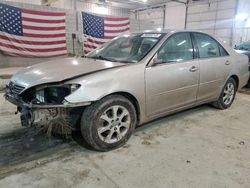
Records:
[[[122,65],[124,64],[89,58],[58,59],[24,68],[16,73],[11,81],[28,88]]]

